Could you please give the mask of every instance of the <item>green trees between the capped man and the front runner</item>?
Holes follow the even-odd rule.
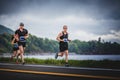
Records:
[[[58,43],[57,41],[50,40],[47,38],[37,38],[36,36],[29,35],[27,39],[27,52],[57,52]]]

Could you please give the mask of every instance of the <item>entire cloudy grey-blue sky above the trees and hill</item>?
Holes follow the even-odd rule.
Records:
[[[69,38],[120,43],[120,0],[0,0],[0,24],[56,39],[63,25]]]

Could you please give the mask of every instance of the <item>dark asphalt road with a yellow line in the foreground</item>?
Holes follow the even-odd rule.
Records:
[[[120,80],[120,70],[0,63],[1,80]]]

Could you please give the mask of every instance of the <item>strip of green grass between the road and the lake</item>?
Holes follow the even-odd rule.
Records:
[[[56,65],[56,66],[64,66],[65,60],[55,60],[55,59],[36,59],[36,58],[25,58],[25,61],[27,64],[42,64],[42,65]],[[10,61],[10,58],[0,58],[0,62],[9,62],[14,63],[15,59],[13,61]],[[112,60],[69,60],[70,66],[73,67],[93,67],[93,68],[114,68],[114,69],[120,69],[120,61],[112,61]]]

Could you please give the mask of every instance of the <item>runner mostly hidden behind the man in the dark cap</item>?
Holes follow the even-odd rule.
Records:
[[[11,56],[11,60],[13,60],[14,57],[17,57],[16,63],[18,64],[18,57],[20,55],[20,51],[18,47],[18,41],[16,38],[17,38],[17,35],[12,35],[11,44],[13,45],[13,55]]]

